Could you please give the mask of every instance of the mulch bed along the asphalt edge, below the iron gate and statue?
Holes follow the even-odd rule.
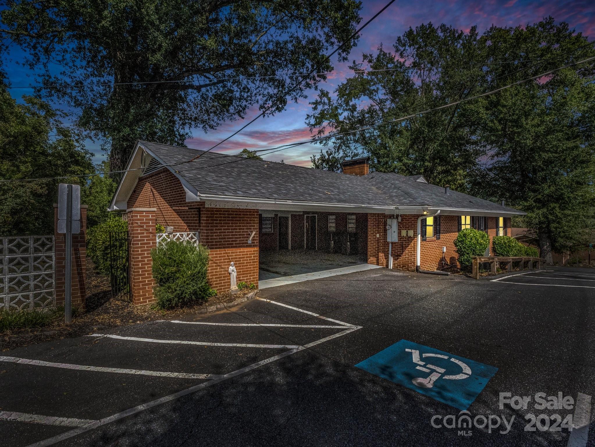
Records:
[[[94,271],[93,264],[88,258],[85,285],[87,288],[86,309],[84,311],[75,310],[73,322],[70,325],[64,323],[63,315],[58,315],[44,327],[4,332],[0,335],[0,349],[8,351],[34,343],[88,335],[97,330],[104,332],[111,327],[127,326],[143,321],[169,320],[187,314],[202,313],[206,307],[233,302],[253,292],[253,290],[243,289],[236,294],[218,293],[204,304],[170,311],[154,310],[151,308],[151,304],[135,306],[130,302],[112,299],[109,278]]]

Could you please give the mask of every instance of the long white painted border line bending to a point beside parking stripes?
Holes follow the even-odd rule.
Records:
[[[264,300],[264,301],[268,301],[268,300]],[[272,303],[278,304],[278,305],[283,305],[281,303],[274,302],[274,301],[268,301],[268,302],[272,302]],[[287,306],[287,305],[283,305],[283,306],[292,308],[293,310],[296,310],[296,311],[299,311],[299,312],[304,312],[306,314],[314,315],[315,317],[324,318],[325,320],[334,321],[334,323],[339,323],[343,327],[346,327],[347,329],[346,330],[343,330],[343,331],[341,331],[339,333],[330,335],[328,337],[324,337],[324,338],[322,338],[320,340],[316,340],[315,342],[311,342],[311,343],[308,343],[308,344],[303,345],[303,346],[297,346],[294,349],[290,349],[289,351],[285,351],[285,352],[282,352],[281,354],[274,355],[273,357],[267,358],[265,360],[261,360],[261,361],[256,362],[256,363],[253,363],[252,365],[249,365],[249,366],[244,367],[244,368],[240,368],[239,370],[233,371],[231,373],[224,374],[223,376],[214,377],[213,379],[208,380],[207,382],[200,383],[199,385],[195,385],[195,386],[192,386],[192,387],[187,388],[185,390],[181,390],[181,391],[179,391],[177,393],[173,393],[173,394],[170,394],[168,396],[165,396],[165,397],[162,397],[162,398],[159,398],[159,399],[155,399],[154,401],[148,402],[146,404],[137,405],[137,407],[129,408],[129,410],[125,410],[125,411],[119,412],[117,414],[113,414],[111,416],[105,417],[105,418],[103,418],[101,420],[98,420],[98,421],[90,421],[88,424],[86,424],[83,427],[79,427],[79,428],[70,430],[69,432],[61,433],[60,435],[57,435],[57,436],[54,436],[54,437],[50,437],[48,439],[45,439],[45,440],[36,442],[36,443],[30,445],[29,447],[46,447],[46,446],[53,445],[53,444],[55,444],[57,442],[60,442],[60,441],[62,441],[64,439],[68,439],[70,437],[80,435],[80,433],[84,433],[84,432],[87,432],[89,430],[96,429],[97,427],[101,427],[101,426],[103,426],[105,424],[112,423],[114,421],[120,420],[120,419],[125,418],[127,416],[130,416],[132,414],[136,414],[138,412],[147,410],[148,408],[156,407],[157,405],[164,404],[165,402],[174,401],[175,399],[178,399],[181,396],[186,396],[186,395],[189,395],[191,393],[195,393],[195,392],[197,392],[199,390],[205,389],[208,386],[215,385],[217,383],[223,382],[224,380],[231,379],[232,377],[236,377],[236,376],[239,376],[240,374],[244,374],[244,373],[247,373],[248,371],[252,371],[255,368],[259,368],[259,367],[261,367],[263,365],[267,365],[267,364],[269,364],[271,362],[280,360],[281,358],[284,358],[284,357],[287,357],[289,355],[295,354],[296,352],[303,351],[303,349],[312,348],[312,346],[316,346],[316,345],[318,345],[320,343],[327,342],[328,340],[332,340],[332,339],[335,339],[337,337],[340,337],[340,336],[343,336],[343,335],[347,335],[348,333],[351,333],[351,332],[353,332],[355,330],[358,330],[358,329],[361,329],[362,328],[361,326],[355,326],[353,324],[343,323],[342,321],[336,321],[336,320],[331,320],[330,318],[321,317],[320,315],[314,314],[314,312],[305,311],[305,310],[302,310],[302,309],[299,309],[299,308],[296,308],[296,307]],[[98,335],[95,335],[95,336],[98,336]]]

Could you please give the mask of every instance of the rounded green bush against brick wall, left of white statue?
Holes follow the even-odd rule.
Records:
[[[171,309],[204,302],[215,295],[206,280],[209,251],[205,246],[167,240],[151,250],[157,307]]]

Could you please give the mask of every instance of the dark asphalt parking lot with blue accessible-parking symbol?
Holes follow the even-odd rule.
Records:
[[[26,346],[2,353],[0,435],[18,447],[595,445],[593,288],[578,268],[479,281],[376,269]],[[537,407],[536,393],[565,405]]]

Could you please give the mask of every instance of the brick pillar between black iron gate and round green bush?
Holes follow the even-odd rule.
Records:
[[[130,292],[133,304],[154,302],[151,249],[157,245],[155,208],[129,208]]]

